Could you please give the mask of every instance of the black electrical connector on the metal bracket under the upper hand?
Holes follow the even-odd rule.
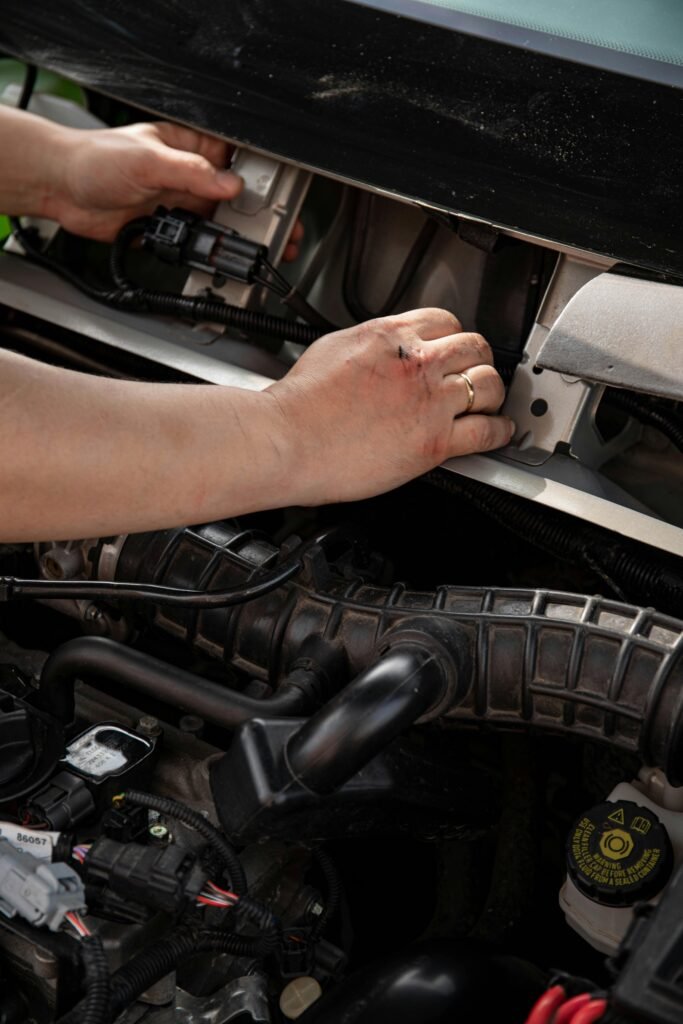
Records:
[[[266,246],[188,210],[160,206],[142,239],[145,249],[166,263],[251,285],[268,258]]]

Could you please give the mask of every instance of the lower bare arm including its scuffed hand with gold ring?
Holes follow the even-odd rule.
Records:
[[[0,541],[100,537],[379,494],[511,423],[443,310],[321,339],[263,392],[113,381],[0,352]],[[474,411],[458,375],[467,370]]]

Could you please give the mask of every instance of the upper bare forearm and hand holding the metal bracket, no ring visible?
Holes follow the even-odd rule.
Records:
[[[0,104],[0,209],[58,220],[110,240],[128,220],[165,206],[208,213],[242,180],[227,144],[154,122],[84,131]]]

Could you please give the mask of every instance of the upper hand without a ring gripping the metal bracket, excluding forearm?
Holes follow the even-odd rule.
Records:
[[[100,241],[160,204],[210,215],[242,188],[242,178],[224,169],[229,154],[226,142],[166,122],[72,130],[54,158],[49,215],[75,234]],[[285,259],[296,257],[302,233],[297,224]]]

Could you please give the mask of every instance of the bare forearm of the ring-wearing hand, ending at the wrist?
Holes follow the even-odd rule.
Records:
[[[288,504],[267,394],[112,381],[0,352],[0,541],[101,537]]]

